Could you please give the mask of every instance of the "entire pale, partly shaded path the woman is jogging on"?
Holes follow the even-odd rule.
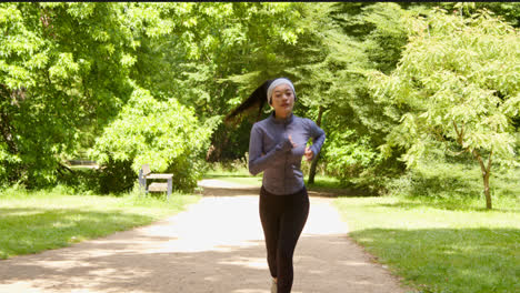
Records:
[[[0,261],[0,292],[269,293],[258,188],[201,185],[200,202],[161,222]],[[313,195],[292,292],[406,292],[347,236],[331,199]]]

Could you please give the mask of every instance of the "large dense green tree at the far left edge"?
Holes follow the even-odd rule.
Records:
[[[150,12],[134,3],[0,4],[2,182],[56,182],[63,159],[117,115],[132,92],[141,31],[168,32]]]

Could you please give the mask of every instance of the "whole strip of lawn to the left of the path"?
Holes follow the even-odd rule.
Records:
[[[0,259],[58,249],[150,224],[178,213],[199,195],[71,195],[48,191],[0,191]]]

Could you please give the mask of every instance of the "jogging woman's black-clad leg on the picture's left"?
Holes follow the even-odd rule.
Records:
[[[260,190],[260,220],[262,222],[263,235],[266,239],[267,259],[269,271],[272,277],[278,276],[277,250],[278,236],[280,234],[280,210],[281,202],[279,195],[270,194],[263,189]]]

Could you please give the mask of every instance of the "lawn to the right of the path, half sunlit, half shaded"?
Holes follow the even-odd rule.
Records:
[[[520,203],[339,198],[350,236],[419,292],[520,292]]]

